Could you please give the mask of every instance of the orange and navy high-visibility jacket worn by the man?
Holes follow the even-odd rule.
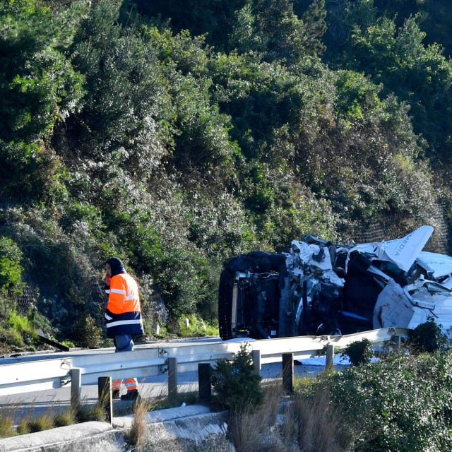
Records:
[[[144,333],[138,285],[131,275],[119,273],[112,277],[105,319],[109,338]]]

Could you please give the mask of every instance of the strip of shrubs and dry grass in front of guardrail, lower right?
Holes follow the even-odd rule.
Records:
[[[423,326],[418,337],[436,335],[433,322]],[[352,344],[364,351],[361,341]],[[295,380],[289,403],[277,385],[266,386],[258,400],[249,391],[257,381],[231,384],[247,372],[236,355],[236,364],[218,362],[222,379],[215,388],[231,407],[230,434],[240,451],[446,452],[452,446],[452,354],[445,345],[426,353],[416,341],[405,343],[409,354],[395,351],[374,362],[361,353],[364,359],[343,371]],[[357,356],[356,347],[348,351]],[[283,419],[276,427],[278,414]]]

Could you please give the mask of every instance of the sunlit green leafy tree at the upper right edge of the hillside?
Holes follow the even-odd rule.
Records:
[[[405,20],[400,30],[383,18],[367,30],[355,29],[352,51],[359,69],[383,83],[386,92],[410,102],[415,131],[435,149],[450,141],[444,132],[451,122],[448,87],[452,72],[441,48],[436,44],[424,47],[424,37],[414,17]]]

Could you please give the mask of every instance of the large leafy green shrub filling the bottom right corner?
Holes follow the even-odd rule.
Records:
[[[450,451],[452,354],[389,355],[328,379],[360,451]]]

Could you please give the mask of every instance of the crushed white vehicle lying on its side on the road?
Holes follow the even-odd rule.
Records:
[[[220,337],[343,335],[432,316],[452,326],[452,258],[422,251],[433,227],[388,242],[343,245],[311,234],[275,254],[253,251],[222,271]]]

